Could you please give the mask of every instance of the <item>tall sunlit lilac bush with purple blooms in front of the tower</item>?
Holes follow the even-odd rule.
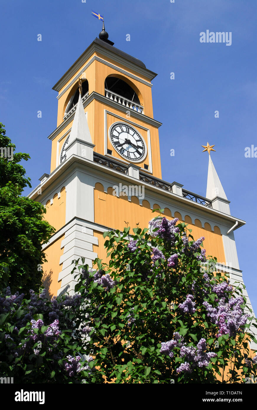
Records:
[[[149,225],[133,235],[129,227],[105,232],[110,262],[96,259],[93,272],[81,268],[76,291],[94,329],[85,332],[92,383],[96,375],[101,383],[242,383],[257,360],[239,288],[202,270],[216,265],[207,260],[204,237],[194,240],[176,218]]]

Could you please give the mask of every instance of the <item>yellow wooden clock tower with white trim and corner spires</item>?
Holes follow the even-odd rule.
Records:
[[[124,221],[141,228],[164,209],[168,219],[186,222],[195,239],[204,236],[217,270],[243,284],[233,230],[245,224],[230,215],[229,201],[209,155],[207,198],[161,176],[158,128],[151,81],[156,73],[118,50],[103,27],[99,38],[60,78],[57,128],[50,174],[29,195],[46,206],[56,229],[44,246],[44,285],[49,296],[74,292],[72,260],[106,260],[103,232],[123,230]],[[204,146],[210,150],[213,146]],[[248,305],[248,294],[244,291]],[[256,347],[252,345],[252,347]]]

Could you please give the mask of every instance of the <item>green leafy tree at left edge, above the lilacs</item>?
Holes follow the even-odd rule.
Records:
[[[6,136],[0,123],[0,287],[11,285],[12,292],[22,289],[38,290],[46,260],[42,252],[54,232],[44,220],[46,210],[40,203],[21,196],[23,189],[31,188],[21,160],[30,156],[15,153],[15,145]],[[9,148],[9,154],[5,155]],[[5,150],[5,151],[4,151]]]

